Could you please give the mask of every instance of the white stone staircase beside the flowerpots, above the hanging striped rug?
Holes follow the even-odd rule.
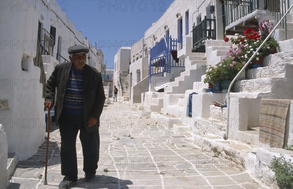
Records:
[[[249,80],[236,82],[235,92],[230,94],[230,105],[238,108],[239,113],[235,115],[231,111],[230,116],[235,119],[243,119],[246,124],[239,128],[239,132],[235,133],[236,135],[232,134],[232,138],[254,147],[264,147],[258,140],[260,101],[263,98],[293,99],[292,54],[291,51],[269,55],[264,60],[263,65],[265,67],[247,70],[246,76]],[[252,108],[252,112],[244,111],[243,108],[249,107]],[[240,112],[241,115],[239,115]]]

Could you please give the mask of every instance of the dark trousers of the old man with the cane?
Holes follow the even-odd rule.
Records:
[[[80,130],[80,140],[84,155],[85,174],[95,174],[98,168],[100,135],[99,130],[87,132],[83,116],[61,114],[59,119],[61,135],[61,174],[64,179],[77,181],[76,137]]]

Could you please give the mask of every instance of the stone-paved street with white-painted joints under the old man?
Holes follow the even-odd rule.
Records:
[[[192,135],[175,134],[156,120],[139,118],[129,105],[105,105],[101,117],[99,168],[93,182],[84,181],[83,154],[78,139],[81,189],[253,189],[263,188],[240,165],[193,144]],[[9,189],[58,189],[63,179],[60,165],[60,134],[50,133],[47,183],[43,185],[45,145],[21,161]]]

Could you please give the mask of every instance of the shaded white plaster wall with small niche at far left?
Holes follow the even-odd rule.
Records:
[[[33,63],[38,16],[33,9],[17,11],[16,7],[11,11],[3,7],[0,11],[0,99],[8,100],[8,109],[1,109],[0,121],[7,135],[8,152],[15,152],[20,159],[35,154],[45,135],[41,70]],[[23,57],[27,71],[21,69]]]

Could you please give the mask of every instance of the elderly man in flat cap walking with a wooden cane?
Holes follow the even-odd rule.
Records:
[[[77,183],[76,137],[80,130],[84,154],[85,181],[95,179],[99,161],[99,124],[105,103],[102,76],[96,68],[85,64],[88,48],[74,45],[68,48],[71,62],[55,67],[46,84],[44,105],[51,109],[55,102],[56,123],[61,135],[61,173],[59,189]]]

